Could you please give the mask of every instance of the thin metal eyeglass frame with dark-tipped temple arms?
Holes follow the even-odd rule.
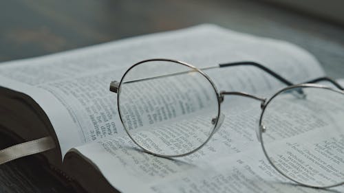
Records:
[[[181,154],[181,155],[160,155],[158,153],[155,153],[155,152],[151,152],[151,150],[148,150],[147,148],[144,148],[143,146],[141,146],[140,144],[138,144],[136,142],[135,139],[133,139],[133,137],[131,137],[130,133],[129,133],[129,130],[126,128],[123,120],[122,120],[122,115],[120,115],[120,88],[121,88],[121,85],[123,83],[123,80],[125,78],[125,76],[127,75],[127,73],[133,68],[133,67],[136,67],[137,65],[140,65],[142,63],[148,63],[148,62],[153,62],[153,61],[163,61],[163,62],[171,62],[171,63],[177,63],[177,64],[180,64],[180,65],[184,65],[186,67],[190,67],[191,69],[193,69],[193,71],[197,71],[199,72],[200,74],[202,74],[202,76],[204,76],[204,78],[206,78],[210,83],[211,83],[211,86],[213,87],[215,93],[217,94],[217,104],[218,104],[218,113],[217,113],[217,118],[213,119],[212,122],[213,122],[213,125],[214,125],[214,128],[211,132],[211,134],[209,135],[208,139],[206,139],[206,141],[204,141],[204,144],[202,144],[200,147],[198,148],[195,148],[194,150],[192,150],[191,152],[186,152],[184,154]],[[272,95],[272,97],[270,99],[267,99],[267,98],[261,98],[259,96],[256,96],[256,95],[252,95],[250,93],[245,93],[245,92],[236,92],[236,91],[217,91],[217,88],[215,87],[215,84],[213,82],[213,80],[211,80],[211,78],[206,75],[206,73],[204,73],[203,71],[204,70],[207,70],[207,69],[215,69],[215,68],[222,68],[222,67],[234,67],[234,66],[243,66],[243,65],[246,65],[246,66],[253,66],[253,67],[257,67],[259,69],[261,69],[262,71],[270,74],[270,76],[276,78],[277,80],[279,80],[280,82],[283,82],[284,84],[287,85],[286,88],[284,89],[281,89],[280,91],[277,91],[277,93],[275,93],[274,95]],[[142,80],[151,80],[151,79],[155,79],[155,78],[163,78],[163,77],[166,77],[166,76],[175,76],[175,75],[178,75],[178,74],[182,74],[182,73],[188,73],[189,71],[182,71],[182,72],[178,72],[178,73],[171,73],[171,74],[166,74],[166,75],[162,75],[162,76],[155,76],[155,77],[150,77],[150,78],[142,78],[142,79],[138,79],[138,80],[131,80],[131,81],[126,81],[124,83],[130,83],[130,82],[138,82],[138,81],[142,81]],[[334,85],[334,87],[336,87],[337,89],[332,89],[331,87],[326,87],[324,85],[321,85],[321,84],[313,84],[313,83],[316,83],[316,82],[321,82],[321,81],[327,81],[327,82],[330,82],[331,84]],[[274,99],[277,95],[279,95],[279,93],[283,93],[284,91],[287,91],[288,89],[294,89],[294,88],[300,88],[300,90],[298,91],[300,94],[303,94],[303,91],[301,88],[309,88],[309,87],[312,87],[312,88],[319,88],[319,89],[327,89],[327,90],[331,90],[331,91],[335,91],[337,93],[341,93],[344,95],[344,88],[341,87],[340,84],[338,84],[338,82],[336,82],[335,80],[333,80],[332,78],[329,78],[329,77],[320,77],[320,78],[315,78],[313,80],[309,80],[307,82],[303,82],[301,84],[293,84],[292,82],[290,82],[289,80],[287,80],[286,78],[283,78],[282,76],[280,76],[278,73],[276,73],[275,71],[272,71],[270,69],[268,69],[268,67],[265,67],[264,65],[261,65],[259,63],[255,63],[255,62],[252,62],[252,61],[242,61],[242,62],[235,62],[235,63],[224,63],[224,64],[219,64],[218,66],[213,66],[213,67],[205,67],[205,68],[201,68],[201,69],[198,69],[197,67],[194,67],[193,65],[190,65],[188,63],[184,63],[182,61],[179,61],[179,60],[172,60],[172,59],[166,59],[166,58],[153,58],[153,59],[149,59],[149,60],[142,60],[140,61],[139,63],[136,63],[134,65],[132,65],[131,67],[129,67],[129,69],[127,69],[127,71],[125,71],[125,73],[123,74],[120,82],[118,81],[112,81],[110,83],[110,87],[109,87],[109,90],[111,92],[114,92],[114,93],[118,93],[117,95],[117,106],[118,106],[118,112],[119,112],[119,115],[120,115],[120,121],[122,122],[122,125],[124,126],[125,128],[125,131],[126,133],[129,135],[129,137],[131,138],[131,140],[137,145],[139,146],[140,148],[142,148],[142,150],[144,150],[145,152],[148,152],[149,154],[151,155],[155,155],[155,156],[158,156],[158,157],[165,157],[165,158],[171,158],[171,157],[183,157],[183,156],[186,156],[186,155],[191,155],[193,152],[196,152],[197,150],[200,150],[200,148],[202,148],[208,141],[209,139],[211,139],[211,137],[213,136],[214,133],[216,133],[216,131],[218,130],[218,128],[221,126],[222,124],[222,121],[221,120],[221,117],[222,117],[222,113],[221,113],[221,103],[224,101],[224,95],[239,95],[239,96],[243,96],[243,97],[246,97],[246,98],[252,98],[254,100],[259,100],[261,102],[261,115],[260,115],[260,118],[259,118],[259,126],[257,127],[257,129],[255,130],[256,131],[256,135],[257,135],[257,139],[258,141],[260,142],[261,144],[261,147],[263,148],[263,152],[264,152],[264,155],[266,156],[266,158],[268,159],[269,163],[272,165],[273,168],[275,168],[275,170],[277,170],[280,174],[282,174],[284,177],[286,177],[287,179],[290,179],[291,181],[294,181],[296,183],[299,183],[301,185],[304,185],[306,187],[310,187],[310,188],[331,188],[331,187],[334,187],[334,186],[338,186],[338,185],[343,185],[344,184],[344,181],[342,183],[338,183],[338,184],[335,184],[335,185],[330,185],[330,186],[313,186],[313,185],[307,185],[305,183],[300,183],[299,181],[296,181],[294,179],[292,179],[291,177],[288,177],[288,175],[284,174],[284,172],[282,172],[279,168],[277,168],[275,166],[274,163],[272,163],[272,161],[270,160],[270,158],[268,157],[268,153],[266,152],[266,148],[264,147],[264,142],[263,142],[263,139],[262,139],[262,133],[265,132],[266,128],[264,127],[264,125],[262,124],[262,118],[263,118],[263,115],[264,115],[264,112],[265,112],[265,109],[266,109],[266,106],[272,101],[272,99]]]

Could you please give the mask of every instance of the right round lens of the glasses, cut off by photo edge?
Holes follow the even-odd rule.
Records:
[[[261,143],[289,179],[325,188],[344,182],[344,94],[312,87],[285,89],[261,117]]]

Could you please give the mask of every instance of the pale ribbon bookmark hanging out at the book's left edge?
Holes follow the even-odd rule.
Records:
[[[34,155],[55,147],[56,146],[52,137],[43,137],[41,139],[17,144],[15,146],[0,150],[0,165],[20,157]]]

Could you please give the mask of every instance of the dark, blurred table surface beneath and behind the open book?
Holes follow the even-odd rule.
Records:
[[[0,62],[200,23],[295,43],[344,78],[344,27],[259,1],[0,1]],[[0,149],[11,142],[0,134]],[[25,157],[0,166],[0,192],[74,192],[41,165]]]

